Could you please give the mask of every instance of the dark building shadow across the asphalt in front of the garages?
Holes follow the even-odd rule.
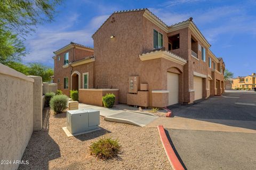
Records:
[[[241,97],[239,100],[246,99]],[[213,96],[204,100],[197,100],[194,104],[177,104],[168,106],[167,108],[172,111],[172,117],[191,118],[199,121],[256,130],[256,107],[235,104],[239,100],[237,98]],[[254,100],[256,101],[256,98]]]

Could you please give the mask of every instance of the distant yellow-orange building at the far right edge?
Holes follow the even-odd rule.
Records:
[[[252,75],[247,75],[246,77],[237,77],[233,79],[232,89],[242,88],[242,89],[252,89],[256,87],[256,73]]]

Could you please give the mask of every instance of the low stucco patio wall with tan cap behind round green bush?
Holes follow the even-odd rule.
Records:
[[[116,96],[115,104],[119,103],[119,89],[79,89],[79,102],[95,106],[103,106],[102,97],[106,94]]]

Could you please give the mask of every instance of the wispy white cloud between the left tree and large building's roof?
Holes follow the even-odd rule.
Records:
[[[95,16],[83,29],[74,31],[68,31],[69,27],[65,27],[66,20],[60,23],[58,27],[39,28],[33,37],[26,40],[29,54],[23,58],[23,62],[40,62],[52,65],[53,52],[69,44],[70,41],[92,47],[93,39],[91,36],[105,22],[108,16]],[[69,25],[73,25],[77,21],[77,17],[78,15],[73,15],[68,18]]]

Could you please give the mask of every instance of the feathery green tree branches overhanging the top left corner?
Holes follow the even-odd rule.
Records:
[[[25,37],[38,24],[51,22],[55,8],[62,0],[4,0],[0,1],[0,63],[21,66],[25,56]],[[14,65],[11,65],[14,64]]]

